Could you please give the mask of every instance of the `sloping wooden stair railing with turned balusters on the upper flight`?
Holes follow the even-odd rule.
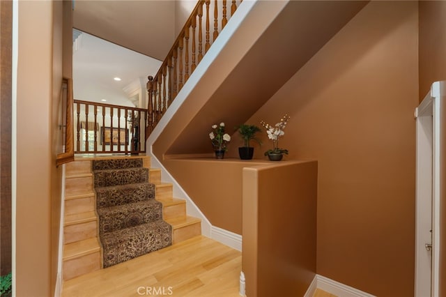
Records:
[[[227,13],[229,1],[198,1],[160,70],[155,77],[148,77],[147,138],[242,1],[230,1],[231,15]]]

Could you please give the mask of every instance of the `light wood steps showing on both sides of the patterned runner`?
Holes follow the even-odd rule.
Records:
[[[134,172],[137,173],[137,176],[141,176],[141,170],[148,172],[148,181],[150,182],[147,183],[148,186],[145,186],[149,188],[148,194],[146,194],[145,198],[141,198],[141,200],[148,201],[150,196],[153,196],[153,188],[155,188],[155,201],[153,201],[153,205],[158,204],[156,201],[162,204],[162,219],[171,225],[172,244],[201,234],[201,220],[187,216],[185,200],[173,197],[172,185],[170,183],[162,183],[161,181],[161,170],[150,168],[150,157],[97,159],[133,160],[133,162],[141,163],[142,168],[135,169]],[[104,203],[107,203],[107,200],[100,198],[97,201],[96,195],[103,195],[100,194],[103,191],[96,190],[98,192],[96,194],[93,187],[95,183],[102,182],[98,182],[97,178],[95,181],[95,178],[93,178],[92,162],[95,161],[91,159],[76,160],[66,165],[63,280],[69,280],[73,277],[110,266],[107,263],[102,263],[103,250],[101,250],[100,241],[98,240],[100,228],[98,225],[98,213],[101,213],[100,208],[96,211],[97,205],[102,204],[103,206],[105,205]],[[109,178],[106,178],[106,180],[109,180]],[[108,186],[105,188],[108,188]],[[151,199],[153,200],[153,197]],[[141,203],[146,204],[147,202]],[[128,214],[132,213],[134,212],[130,211]],[[128,218],[129,220],[125,224],[134,224],[134,220],[132,220],[130,215],[128,215]],[[153,223],[150,222],[148,224]],[[146,227],[139,228],[145,229]],[[147,231],[141,231],[141,234],[144,237]],[[124,258],[131,259],[128,256]]]

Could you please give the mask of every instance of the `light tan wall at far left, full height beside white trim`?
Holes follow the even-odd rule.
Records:
[[[55,167],[52,131],[57,127],[62,37],[55,33],[53,40],[53,29],[62,26],[60,14],[61,3],[19,3],[15,296],[54,295],[61,168]]]

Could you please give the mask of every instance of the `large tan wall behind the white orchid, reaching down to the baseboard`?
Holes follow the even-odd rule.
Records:
[[[317,273],[377,296],[413,295],[417,20],[369,3],[249,119],[291,116],[280,146],[318,160]]]

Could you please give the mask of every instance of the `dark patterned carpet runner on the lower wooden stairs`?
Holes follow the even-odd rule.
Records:
[[[93,175],[103,268],[171,245],[142,159],[94,160]]]

